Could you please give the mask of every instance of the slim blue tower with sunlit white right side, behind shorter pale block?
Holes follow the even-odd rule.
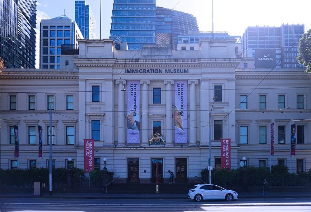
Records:
[[[90,5],[85,1],[75,1],[75,21],[85,39],[96,39],[96,20]]]

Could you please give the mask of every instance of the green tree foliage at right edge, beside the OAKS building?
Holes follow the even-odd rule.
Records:
[[[298,62],[306,67],[306,72],[311,72],[311,29],[302,35],[298,51]]]

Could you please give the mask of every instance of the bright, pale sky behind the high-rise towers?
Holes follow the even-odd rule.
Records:
[[[109,38],[113,0],[102,2],[101,38]],[[100,0],[86,0],[97,24],[100,39]],[[75,0],[37,0],[36,68],[39,68],[39,24],[42,19],[67,15],[75,19]],[[199,31],[212,31],[212,0],[156,0],[156,6],[194,15]],[[242,36],[248,26],[281,26],[304,24],[311,28],[310,0],[214,0],[214,32],[228,32]]]

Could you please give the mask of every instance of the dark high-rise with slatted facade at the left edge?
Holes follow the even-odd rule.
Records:
[[[36,0],[0,0],[0,56],[7,68],[35,68]]]

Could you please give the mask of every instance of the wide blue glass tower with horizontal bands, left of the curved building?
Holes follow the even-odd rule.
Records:
[[[110,37],[128,49],[156,43],[156,0],[114,0]]]

